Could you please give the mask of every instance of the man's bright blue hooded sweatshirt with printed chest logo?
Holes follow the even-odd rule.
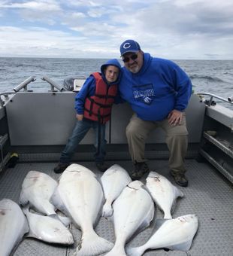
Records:
[[[168,59],[144,53],[138,73],[122,69],[120,96],[142,120],[163,120],[173,110],[184,111],[192,94],[189,77]]]

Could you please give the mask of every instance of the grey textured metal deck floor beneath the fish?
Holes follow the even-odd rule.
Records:
[[[118,163],[125,169],[132,168],[130,161],[107,162]],[[98,175],[92,162],[80,162],[83,166],[92,169]],[[18,202],[20,197],[21,184],[30,170],[45,172],[53,178],[59,175],[53,172],[56,163],[17,163],[14,169],[7,169],[0,173],[0,200],[10,198]],[[165,175],[174,183],[169,175],[167,160],[150,160],[150,170]],[[192,256],[222,256],[233,255],[233,186],[219,172],[213,169],[208,163],[197,163],[195,160],[186,160],[186,173],[189,178],[189,187],[179,187],[185,197],[177,200],[173,217],[180,215],[197,214],[198,232],[192,242],[189,251],[165,251],[158,249],[147,251],[144,255],[192,255]],[[144,181],[144,180],[142,180]],[[156,218],[162,218],[162,212],[156,208]],[[97,233],[114,242],[113,224],[105,218],[101,218],[95,228]],[[12,230],[14,232],[14,230]],[[75,245],[65,247],[51,245],[36,239],[26,238],[14,251],[14,256],[69,256],[74,254],[77,242],[80,240],[80,230],[71,227],[74,235]],[[151,228],[135,236],[129,245],[142,245],[150,236]],[[0,248],[1,250],[1,248]],[[118,256],[118,255],[116,255]]]

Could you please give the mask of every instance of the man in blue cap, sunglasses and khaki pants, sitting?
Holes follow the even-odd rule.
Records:
[[[185,109],[192,93],[189,77],[174,62],[144,53],[137,41],[126,40],[120,46],[124,62],[120,96],[132,107],[126,136],[135,169],[132,178],[149,172],[144,157],[145,140],[150,131],[162,127],[170,151],[171,175],[186,187],[184,158],[187,151]]]

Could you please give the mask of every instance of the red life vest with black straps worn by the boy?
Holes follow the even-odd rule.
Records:
[[[106,123],[110,120],[110,112],[117,93],[117,85],[110,87],[104,82],[98,72],[92,74],[95,78],[95,95],[86,98],[83,117]]]

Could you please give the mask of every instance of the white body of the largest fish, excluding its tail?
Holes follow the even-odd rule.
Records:
[[[95,223],[104,196],[94,173],[63,172],[59,181],[59,195],[78,227],[83,229]]]

